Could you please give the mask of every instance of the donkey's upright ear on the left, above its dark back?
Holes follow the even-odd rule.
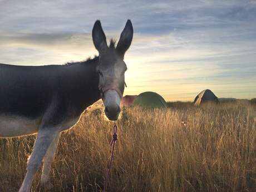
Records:
[[[104,31],[101,27],[101,23],[99,20],[97,20],[94,23],[94,26],[92,29],[92,40],[96,50],[98,50],[99,53],[106,50],[107,48],[106,36],[104,34]]]

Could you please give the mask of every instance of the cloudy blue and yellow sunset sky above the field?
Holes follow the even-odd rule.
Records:
[[[108,40],[119,39],[127,19],[133,24],[124,95],[193,101],[209,88],[217,97],[256,97],[256,1],[0,0],[0,63],[93,57],[96,19]]]

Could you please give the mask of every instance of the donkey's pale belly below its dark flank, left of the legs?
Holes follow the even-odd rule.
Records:
[[[28,119],[21,116],[0,115],[0,137],[16,137],[35,134],[41,118]]]

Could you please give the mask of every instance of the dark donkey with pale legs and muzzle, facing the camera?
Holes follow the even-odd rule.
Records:
[[[67,65],[14,66],[0,64],[0,137],[37,133],[19,192],[29,192],[43,161],[41,185],[52,186],[51,163],[60,132],[70,129],[85,109],[99,99],[111,121],[120,114],[125,88],[125,52],[131,45],[133,27],[127,20],[115,46],[97,20],[92,40],[99,56]]]

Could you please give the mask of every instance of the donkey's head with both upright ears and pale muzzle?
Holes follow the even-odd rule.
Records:
[[[117,120],[120,114],[120,102],[125,89],[125,71],[127,70],[124,56],[131,45],[133,33],[131,21],[128,20],[115,47],[114,41],[107,46],[100,21],[96,21],[92,29],[93,44],[99,51],[100,63],[97,66],[99,90],[104,102],[105,114],[111,121]]]

